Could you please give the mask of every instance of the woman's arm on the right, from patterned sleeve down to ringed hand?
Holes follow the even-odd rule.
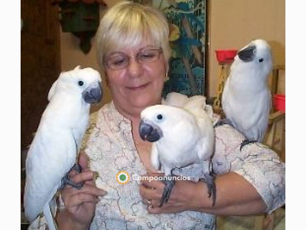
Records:
[[[271,213],[283,205],[285,164],[262,144],[249,144],[240,151],[243,139],[244,136],[232,127],[216,128],[216,150],[212,160],[213,171],[218,174],[215,206],[212,207],[204,182],[176,181],[169,201],[158,208],[164,184],[142,181],[140,194],[144,202],[153,200],[153,208],[148,208],[148,212],[194,210],[217,215],[252,215]]]

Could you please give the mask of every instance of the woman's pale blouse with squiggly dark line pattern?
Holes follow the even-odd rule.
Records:
[[[213,116],[212,119],[216,121],[217,118]],[[231,126],[215,128],[213,171],[216,174],[231,171],[244,177],[263,198],[266,212],[271,213],[285,203],[285,164],[263,144],[248,144],[240,151],[243,140],[244,136]],[[216,217],[208,213],[147,213],[139,194],[139,181],[132,179],[145,174],[146,169],[132,138],[131,121],[115,109],[113,102],[92,114],[83,147],[90,158],[91,170],[99,173],[96,185],[107,191],[96,206],[90,230],[216,229]],[[190,176],[197,181],[207,168],[206,163],[175,169],[173,174]],[[117,182],[119,171],[129,174],[129,182]],[[44,218],[37,218],[29,229],[45,229]]]

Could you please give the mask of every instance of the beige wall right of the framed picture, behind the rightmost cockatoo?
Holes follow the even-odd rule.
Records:
[[[285,0],[210,0],[209,96],[216,95],[216,49],[240,49],[251,40],[267,40],[274,64],[285,65]],[[285,93],[284,73],[280,93]]]

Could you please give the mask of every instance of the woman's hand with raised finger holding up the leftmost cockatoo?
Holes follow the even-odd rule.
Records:
[[[95,206],[99,196],[106,192],[95,186],[95,172],[88,167],[88,158],[82,152],[79,156],[79,164],[82,172],[76,174],[70,172],[69,178],[73,182],[84,182],[83,187],[78,190],[69,185],[61,191],[65,209],[58,213],[58,225],[60,229],[88,229],[95,214]]]

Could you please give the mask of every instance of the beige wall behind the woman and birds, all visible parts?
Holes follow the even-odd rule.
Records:
[[[113,6],[121,0],[104,0]],[[272,46],[275,64],[285,64],[285,0],[210,0],[209,96],[216,95],[218,62],[216,49],[242,48],[252,39],[262,38]],[[100,10],[100,17],[103,10]],[[61,32],[62,71],[76,65],[99,70],[95,54],[95,39],[87,54],[78,48],[79,41],[70,33]],[[280,91],[285,93],[284,74],[280,76]],[[100,104],[110,101],[107,88]]]

